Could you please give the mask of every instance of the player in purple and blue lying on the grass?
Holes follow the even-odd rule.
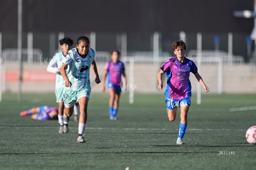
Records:
[[[31,115],[31,118],[35,120],[58,119],[58,108],[41,106],[41,107],[30,108],[29,110],[20,112],[20,116],[28,116],[28,115]]]

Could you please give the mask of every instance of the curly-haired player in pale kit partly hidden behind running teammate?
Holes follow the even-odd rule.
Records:
[[[56,83],[55,83],[55,95],[56,95],[56,102],[58,103],[59,107],[59,133],[67,133],[69,132],[69,127],[66,121],[63,119],[63,112],[64,112],[64,102],[63,102],[63,90],[65,87],[65,80],[62,78],[61,73],[59,72],[59,68],[61,68],[62,60],[67,56],[67,52],[69,52],[71,46],[73,45],[73,40],[70,38],[63,38],[59,40],[59,45],[61,46],[62,52],[58,52],[53,56],[53,59],[49,62],[47,67],[47,71],[56,74]],[[77,106],[77,105],[75,105]],[[78,111],[79,109],[74,109],[74,120],[78,119]]]

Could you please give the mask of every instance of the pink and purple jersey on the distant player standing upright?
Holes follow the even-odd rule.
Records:
[[[124,63],[117,61],[114,63],[109,61],[106,63],[105,70],[108,71],[108,84],[111,83],[114,86],[120,86],[122,81],[122,73],[124,73]]]

